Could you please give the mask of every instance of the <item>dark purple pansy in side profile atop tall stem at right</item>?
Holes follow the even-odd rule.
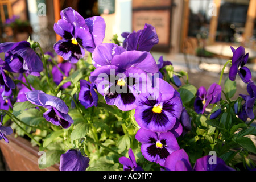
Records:
[[[233,52],[232,66],[229,70],[229,79],[231,81],[236,80],[237,73],[241,77],[242,81],[248,83],[251,79],[251,71],[249,68],[245,67],[248,61],[249,53],[245,54],[245,48],[240,46],[237,49],[231,47]]]

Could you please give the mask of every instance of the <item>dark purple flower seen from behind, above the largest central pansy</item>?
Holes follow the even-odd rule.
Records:
[[[127,33],[122,35],[126,38],[123,48],[127,49],[127,51],[137,50],[150,52],[152,47],[159,42],[155,28],[147,23],[142,30],[138,30],[129,35],[127,35]]]

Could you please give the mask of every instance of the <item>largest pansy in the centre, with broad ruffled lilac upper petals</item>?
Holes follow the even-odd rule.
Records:
[[[147,73],[158,72],[154,58],[148,52],[125,51],[113,43],[97,46],[92,54],[96,69],[90,81],[96,84],[106,103],[121,110],[136,107],[135,100],[150,82]]]

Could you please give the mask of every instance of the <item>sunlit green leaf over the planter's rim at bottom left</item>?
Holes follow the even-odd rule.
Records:
[[[40,157],[40,158],[45,158],[45,160],[42,159],[42,163],[39,164],[39,168],[44,169],[56,163],[59,163],[61,154],[63,154],[63,151],[59,151],[59,150],[47,151],[45,154],[43,154],[44,156],[42,155]]]

